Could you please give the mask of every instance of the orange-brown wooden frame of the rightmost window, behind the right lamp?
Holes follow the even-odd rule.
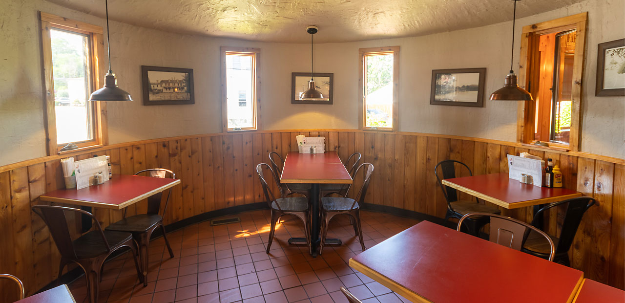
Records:
[[[571,88],[571,132],[569,144],[549,142],[544,148],[560,151],[579,151],[581,136],[581,98],[582,98],[582,75],[584,72],[584,60],[586,54],[586,28],[588,13],[579,13],[571,16],[544,21],[541,23],[524,26],[521,34],[521,55],[519,58],[519,86],[535,96],[539,83],[539,64],[537,59],[537,45],[541,34],[557,33],[569,29],[576,29],[575,58],[573,61],[573,85]],[[534,123],[536,116],[536,101],[518,101],[517,103],[517,131],[516,140],[522,145],[533,145]],[[551,131],[551,130],[550,130]],[[550,140],[551,141],[551,140]],[[541,146],[542,147],[542,146]]]

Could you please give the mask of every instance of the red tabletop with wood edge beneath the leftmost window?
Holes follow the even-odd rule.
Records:
[[[122,209],[180,183],[178,179],[114,175],[100,185],[54,190],[39,196],[42,201],[90,207]]]

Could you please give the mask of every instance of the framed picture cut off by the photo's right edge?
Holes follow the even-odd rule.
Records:
[[[625,39],[599,44],[594,95],[625,96]]]

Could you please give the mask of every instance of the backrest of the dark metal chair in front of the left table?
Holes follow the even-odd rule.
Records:
[[[63,257],[76,259],[76,250],[74,250],[74,244],[72,243],[71,235],[69,234],[67,212],[81,213],[91,218],[91,221],[95,222],[96,230],[99,231],[99,234],[106,245],[106,251],[111,251],[109,242],[106,241],[106,237],[104,237],[104,232],[100,226],[100,222],[96,220],[93,213],[77,208],[56,205],[34,205],[31,209],[39,215],[44,222],[46,222],[47,229],[50,230],[52,239],[54,239],[54,244],[56,244],[56,248],[59,249],[59,252]]]

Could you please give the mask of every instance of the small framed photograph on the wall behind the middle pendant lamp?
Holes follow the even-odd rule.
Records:
[[[311,73],[291,73],[291,103],[292,104],[332,104],[334,90],[334,73],[314,73],[316,89],[323,95],[319,100],[301,100],[304,91],[308,90],[308,81]]]

